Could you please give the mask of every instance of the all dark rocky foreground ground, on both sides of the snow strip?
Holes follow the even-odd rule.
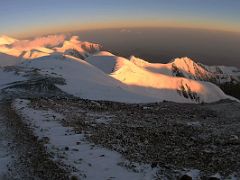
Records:
[[[38,77],[13,83],[1,91],[1,133],[6,135],[4,141],[9,141],[6,151],[12,154],[4,177],[91,179],[85,171],[74,170],[71,162],[70,165],[65,163],[67,158],[71,160],[69,152],[73,151],[73,158],[77,159],[84,142],[92,148],[118,152],[124,160],[117,166],[128,171],[140,174],[144,168],[139,167],[145,165],[149,172],[154,172],[149,179],[240,178],[239,103],[230,100],[199,105],[90,101],[63,93],[55,83],[59,83],[59,79]],[[27,100],[28,105],[14,106],[19,98],[19,102]],[[57,120],[61,127],[70,127],[71,133],[63,136],[71,139],[71,135],[83,135],[83,141],[76,140],[80,149],[63,141],[63,148],[60,148],[63,157],[55,144],[58,150],[52,151],[48,135],[51,132],[28,123],[28,118],[19,113],[27,108],[33,113],[46,112],[49,123]],[[52,112],[62,118],[55,118]],[[107,156],[106,151],[99,157]],[[98,161],[93,159],[88,168],[95,171],[94,164]],[[84,164],[74,163],[80,164],[77,168]]]

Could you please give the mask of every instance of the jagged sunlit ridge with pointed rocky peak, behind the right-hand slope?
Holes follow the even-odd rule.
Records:
[[[240,82],[240,69],[227,66],[207,66],[194,62],[188,57],[176,58],[168,64],[148,63],[145,60],[131,57],[134,64],[155,73],[185,77],[198,81],[214,81],[219,84]]]

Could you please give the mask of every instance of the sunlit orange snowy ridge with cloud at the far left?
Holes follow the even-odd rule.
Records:
[[[0,53],[23,59],[35,59],[54,53],[76,56],[74,54],[76,52],[81,58],[86,58],[99,51],[100,48],[101,46],[98,44],[80,41],[77,36],[72,36],[69,40],[60,35],[33,40],[15,40],[7,36],[0,38]]]

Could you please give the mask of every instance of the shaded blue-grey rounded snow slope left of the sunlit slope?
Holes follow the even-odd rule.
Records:
[[[42,74],[64,78],[66,85],[59,87],[81,98],[131,103],[154,101],[128,91],[126,85],[86,61],[71,56],[51,55],[24,62],[21,66],[41,69]]]

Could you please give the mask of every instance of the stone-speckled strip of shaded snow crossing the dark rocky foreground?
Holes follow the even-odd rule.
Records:
[[[138,172],[136,169],[133,171],[122,167],[119,163],[126,163],[126,160],[119,153],[93,146],[85,140],[84,134],[63,127],[60,121],[64,117],[61,114],[32,109],[28,103],[29,101],[17,99],[13,106],[39,139],[49,138],[47,150],[55,154],[56,161],[76,169],[74,174],[77,177],[89,180],[153,179],[156,169],[150,165],[138,165]]]

